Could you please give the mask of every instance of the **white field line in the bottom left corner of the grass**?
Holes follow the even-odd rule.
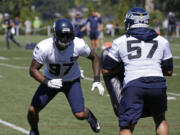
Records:
[[[1,120],[1,119],[0,119],[0,123],[3,124],[3,125],[5,125],[5,126],[8,126],[8,127],[12,128],[12,129],[15,129],[15,130],[17,130],[17,131],[19,131],[19,132],[21,132],[21,133],[23,133],[23,134],[26,134],[26,135],[29,134],[29,131],[27,131],[26,129],[24,129],[24,128],[22,128],[22,127],[19,127],[19,126],[16,126],[16,125],[14,125],[14,124],[12,124],[12,123],[9,123],[9,122],[7,122],[7,121],[4,121],[4,120]]]

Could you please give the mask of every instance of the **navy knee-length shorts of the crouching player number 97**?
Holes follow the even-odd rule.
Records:
[[[59,92],[63,92],[66,95],[73,113],[84,112],[84,98],[80,79],[76,79],[72,82],[63,82],[63,87],[61,89],[51,89],[44,84],[40,84],[32,99],[31,106],[40,111]]]

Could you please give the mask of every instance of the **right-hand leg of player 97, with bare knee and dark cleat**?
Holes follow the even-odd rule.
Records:
[[[80,79],[63,84],[63,91],[68,99],[74,116],[79,120],[86,119],[94,132],[100,131],[100,126],[95,115],[84,105]]]

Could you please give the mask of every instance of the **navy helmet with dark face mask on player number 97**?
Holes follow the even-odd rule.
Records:
[[[66,48],[74,39],[74,29],[68,19],[59,19],[54,23],[54,39],[59,48]]]

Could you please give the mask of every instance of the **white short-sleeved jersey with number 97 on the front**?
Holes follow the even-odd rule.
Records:
[[[65,50],[59,51],[54,39],[48,38],[37,44],[33,52],[33,59],[40,64],[46,64],[44,75],[47,78],[73,81],[80,77],[78,57],[88,57],[90,52],[90,48],[83,39],[75,38]]]

